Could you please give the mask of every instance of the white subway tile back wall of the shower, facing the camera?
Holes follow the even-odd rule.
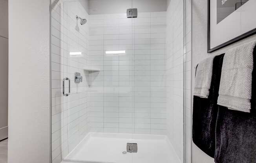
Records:
[[[166,12],[90,15],[92,132],[166,134]],[[106,51],[126,51],[106,54]]]

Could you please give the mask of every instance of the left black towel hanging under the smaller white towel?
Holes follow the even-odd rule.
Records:
[[[193,103],[193,142],[210,157],[215,154],[215,127],[218,114],[217,100],[224,54],[214,57],[212,81],[208,98],[194,96]]]

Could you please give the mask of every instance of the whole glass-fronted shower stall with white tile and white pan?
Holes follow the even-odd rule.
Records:
[[[51,0],[52,163],[185,163],[185,0]]]

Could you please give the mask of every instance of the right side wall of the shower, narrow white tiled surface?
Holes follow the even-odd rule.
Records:
[[[167,9],[167,136],[181,162],[183,162],[183,36],[183,1],[172,0]]]

